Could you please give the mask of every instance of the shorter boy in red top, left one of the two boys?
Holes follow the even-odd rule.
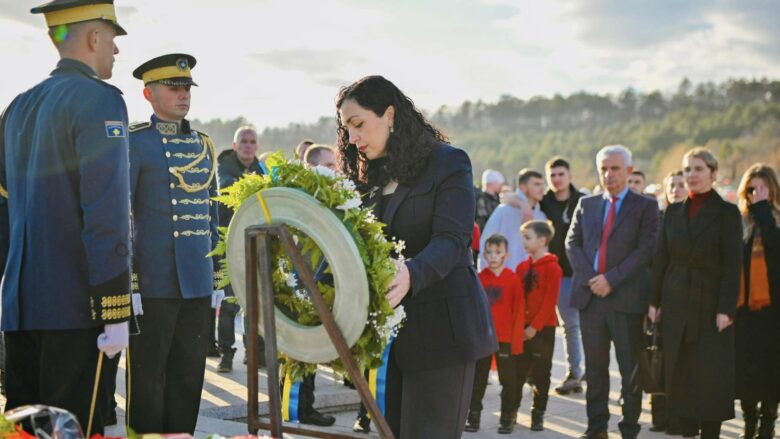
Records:
[[[520,279],[512,270],[506,268],[508,242],[500,234],[491,235],[485,241],[485,259],[487,268],[479,273],[479,280],[490,303],[493,324],[498,338],[496,364],[498,380],[501,383],[501,419],[510,418],[517,413],[520,405],[517,381],[516,360],[523,352],[525,327],[523,321],[523,295],[520,291]],[[474,390],[471,393],[471,405],[466,421],[466,431],[479,430],[482,397],[485,396],[490,363],[493,355],[477,361],[474,369]],[[514,421],[513,421],[514,423]]]

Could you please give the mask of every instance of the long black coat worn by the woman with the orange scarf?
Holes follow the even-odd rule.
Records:
[[[737,398],[743,400],[780,399],[780,227],[768,202],[750,206],[755,229],[761,233],[764,246],[771,305],[750,310],[747,305],[737,310]],[[750,262],[754,236],[746,242],[744,274],[750,279]],[[746,302],[752,294],[747,290]]]

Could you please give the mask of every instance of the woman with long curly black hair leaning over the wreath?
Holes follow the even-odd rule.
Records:
[[[387,294],[406,322],[388,364],[386,417],[396,437],[460,437],[474,364],[498,348],[473,268],[471,163],[395,85],[363,78],[337,97],[342,172],[405,242]]]

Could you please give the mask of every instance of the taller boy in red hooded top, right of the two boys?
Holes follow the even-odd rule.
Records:
[[[563,271],[558,257],[548,251],[555,230],[549,221],[528,221],[520,230],[523,247],[529,257],[517,266],[517,277],[525,297],[525,346],[517,359],[518,406],[522,384],[530,374],[533,378],[534,401],[531,408],[531,430],[544,430],[544,411],[550,390],[550,370],[555,349],[555,327],[558,318],[555,306]]]

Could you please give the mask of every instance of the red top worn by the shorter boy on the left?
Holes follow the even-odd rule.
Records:
[[[500,343],[511,343],[512,353],[523,353],[523,330],[525,329],[525,298],[520,279],[508,268],[499,276],[485,268],[479,273],[479,281],[490,303],[493,325]]]

